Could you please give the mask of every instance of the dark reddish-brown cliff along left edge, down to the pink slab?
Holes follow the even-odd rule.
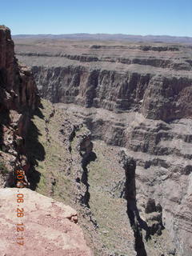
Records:
[[[0,26],[0,90],[1,183],[15,186],[14,170],[29,169],[25,136],[39,97],[30,70],[19,66],[14,57],[14,42],[6,26]]]

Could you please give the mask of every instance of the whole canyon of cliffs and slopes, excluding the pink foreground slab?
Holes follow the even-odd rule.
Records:
[[[2,185],[15,186],[13,170],[25,169],[28,188],[77,210],[94,255],[190,256],[191,45],[14,37],[15,57],[32,72],[21,68],[15,80],[5,30],[0,153],[19,160],[5,161]],[[27,122],[10,125],[13,109]],[[18,137],[6,146],[6,130],[18,126],[19,150]]]

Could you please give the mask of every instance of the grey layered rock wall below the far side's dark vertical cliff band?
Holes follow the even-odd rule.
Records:
[[[192,222],[191,119],[182,118],[166,123],[144,118],[137,112],[114,114],[102,109],[89,110],[62,104],[58,106],[82,119],[91,130],[94,140],[102,140],[108,145],[118,146],[124,151],[126,158],[134,160],[136,169],[135,179],[132,182],[135,182],[135,187],[125,186],[137,201],[140,214],[138,220],[142,218],[140,223],[146,222],[146,225],[153,230],[151,225],[154,225],[155,219],[150,218],[156,217],[146,214],[147,203],[153,199],[156,205],[162,207],[161,221],[165,228],[162,239],[165,239],[166,246],[170,251],[175,250],[175,255],[190,256],[192,250],[189,241]],[[115,157],[117,156],[114,155]],[[129,175],[127,182],[131,182]],[[145,240],[147,235],[145,226],[138,225],[138,229],[144,232],[143,242],[149,255],[152,255],[149,243]]]

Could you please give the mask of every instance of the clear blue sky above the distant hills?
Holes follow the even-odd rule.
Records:
[[[2,0],[12,34],[169,34],[192,37],[192,0]]]

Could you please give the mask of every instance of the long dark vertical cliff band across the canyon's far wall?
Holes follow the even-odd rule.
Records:
[[[33,67],[42,97],[106,110],[138,110],[146,118],[192,117],[192,78],[89,70],[83,66]]]

